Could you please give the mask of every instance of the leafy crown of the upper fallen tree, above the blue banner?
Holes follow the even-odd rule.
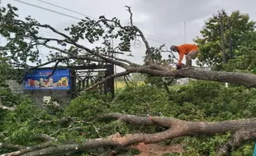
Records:
[[[54,49],[54,52],[50,51],[49,56],[47,56],[48,61],[58,58],[59,62],[64,62],[69,66],[92,64],[92,61],[88,59],[78,59],[77,57],[68,59],[67,57],[80,54],[96,58],[98,57],[97,53],[108,55],[109,52],[107,51],[113,50],[111,39],[116,39],[119,42],[116,50],[130,52],[131,44],[137,40],[139,34],[134,25],[122,25],[116,17],[107,19],[105,16],[99,16],[98,20],[85,17],[77,24],[65,28],[64,31],[66,32],[61,35],[62,32],[59,30],[55,30],[50,25],[41,25],[31,16],[21,20],[17,11],[18,8],[11,4],[8,4],[7,7],[0,7],[0,35],[7,41],[7,44],[0,48],[0,56],[8,57],[9,62],[12,62],[15,67],[27,69],[30,62],[35,62],[37,65],[41,64],[39,47],[50,48],[49,44],[52,42],[59,45],[50,48],[50,50]],[[42,37],[40,30],[48,28],[65,39]],[[87,40],[90,44],[101,41],[102,47],[90,49],[83,47],[83,45],[78,46],[77,43],[81,40]],[[65,49],[65,51],[59,49]],[[65,59],[63,59],[64,57]]]

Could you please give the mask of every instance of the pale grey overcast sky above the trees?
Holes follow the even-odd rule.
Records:
[[[20,0],[18,0],[20,1]],[[40,7],[46,7],[51,10],[59,11],[69,16],[83,18],[83,15],[50,6],[38,0],[21,0]],[[229,14],[231,11],[240,10],[242,13],[248,13],[251,20],[256,21],[256,1],[255,0],[44,0],[55,5],[78,11],[81,14],[97,18],[105,15],[106,17],[118,17],[122,22],[128,24],[129,13],[125,6],[130,6],[135,25],[145,33],[150,46],[167,44],[193,43],[192,39],[199,35],[199,31],[212,14],[215,14],[222,8]],[[11,3],[18,7],[18,14],[21,18],[32,16],[40,23],[54,26],[57,29],[64,29],[69,25],[75,24],[78,20],[68,16],[45,11],[40,8],[31,7],[15,0],[2,0],[1,6]],[[186,21],[186,38],[184,35],[184,21]],[[55,34],[50,31],[41,32],[43,35]],[[114,42],[115,44],[115,42]],[[92,45],[90,46],[92,47]],[[45,58],[45,49],[42,49],[41,57]],[[126,57],[133,62],[142,63],[145,54],[145,48],[136,45],[132,54],[135,57]],[[185,60],[183,60],[184,62]]]

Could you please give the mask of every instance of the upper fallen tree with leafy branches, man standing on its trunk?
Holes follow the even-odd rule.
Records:
[[[2,19],[6,21],[3,26],[10,29],[10,32],[17,29],[17,35],[14,38],[7,35],[7,40],[9,42],[6,44],[6,46],[1,47],[1,50],[8,53],[15,49],[16,53],[19,53],[19,55],[17,55],[20,56],[19,59],[23,59],[23,51],[26,50],[27,54],[24,59],[27,60],[28,57],[33,57],[36,59],[33,60],[33,62],[40,62],[36,67],[28,67],[26,62],[22,62],[23,64],[21,63],[20,66],[25,66],[27,69],[25,74],[28,71],[54,62],[56,63],[55,67],[58,67],[59,62],[67,64],[67,66],[75,65],[76,63],[88,64],[97,62],[102,64],[107,62],[125,69],[125,72],[117,73],[116,75],[112,75],[107,79],[139,72],[148,74],[150,76],[188,77],[197,80],[228,82],[231,84],[245,85],[247,87],[256,86],[256,76],[254,74],[239,72],[198,71],[192,69],[176,71],[173,67],[167,67],[163,62],[155,58],[161,55],[161,52],[164,52],[164,45],[160,46],[160,48],[150,47],[147,39],[145,38],[145,34],[143,34],[142,30],[134,25],[133,14],[130,7],[126,6],[126,8],[130,13],[130,25],[121,25],[121,21],[116,17],[113,19],[107,19],[105,16],[100,16],[98,21],[86,17],[86,19],[83,21],[79,21],[78,25],[72,25],[71,27],[64,29],[65,32],[63,32],[55,29],[51,25],[40,24],[35,19],[32,19],[31,16],[27,17],[26,21],[17,20],[16,16],[12,16],[11,18],[8,16],[8,14],[13,14],[13,11],[16,11],[17,8],[8,6],[9,10],[4,11],[6,12],[6,15],[2,15]],[[41,37],[39,31],[44,29],[50,30],[51,33],[59,35],[60,39]],[[7,33],[10,33],[8,30],[6,31]],[[24,35],[21,36],[19,34]],[[102,47],[88,48],[83,44],[78,43],[80,40],[87,39],[91,44],[94,44],[99,41],[100,38],[104,40],[102,42]],[[121,42],[117,47],[111,48],[109,39],[121,39]],[[138,42],[140,39],[145,45],[145,65],[130,62],[126,59],[115,57],[113,55],[114,53],[119,52],[130,52],[131,42]],[[29,40],[29,42],[26,42],[26,40]],[[13,44],[17,44],[17,47],[13,47]],[[27,44],[28,46],[26,49],[22,49],[21,44]],[[52,44],[58,44],[58,46],[52,46]],[[56,52],[50,53],[49,62],[41,63],[38,51],[38,47],[40,46]],[[33,51],[34,49],[36,49],[36,52]],[[170,51],[167,50],[167,52]],[[17,57],[16,53],[12,53],[12,57]],[[59,53],[62,55],[60,56]],[[173,58],[176,57],[173,55],[171,59]],[[107,79],[102,80],[101,83],[104,83]]]

